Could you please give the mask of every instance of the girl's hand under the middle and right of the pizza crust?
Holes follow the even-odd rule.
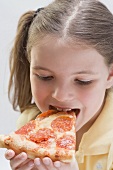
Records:
[[[71,163],[63,163],[60,161],[52,162],[48,157],[34,159],[34,164],[37,170],[79,170],[76,160]]]

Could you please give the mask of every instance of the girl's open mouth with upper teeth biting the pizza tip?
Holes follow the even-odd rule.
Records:
[[[61,108],[61,107],[55,107],[55,106],[50,105],[49,109],[50,110],[56,110],[58,112],[71,112],[71,111],[73,111],[76,116],[78,116],[78,114],[80,113],[80,109],[78,109],[78,108],[74,108],[74,109],[71,109],[71,108]]]

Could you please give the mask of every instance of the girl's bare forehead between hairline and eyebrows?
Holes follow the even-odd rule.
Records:
[[[67,70],[73,68],[79,72],[89,68],[92,71],[99,70],[105,66],[103,56],[94,48],[78,44],[71,46],[56,38],[42,40],[40,45],[34,46],[31,51],[31,62],[32,65],[48,67],[53,71],[58,68],[60,72],[64,72],[64,68]]]

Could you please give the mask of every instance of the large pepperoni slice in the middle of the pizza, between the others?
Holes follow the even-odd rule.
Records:
[[[51,142],[51,138],[55,138],[54,132],[48,128],[39,129],[36,133],[30,134],[30,140],[35,143]]]

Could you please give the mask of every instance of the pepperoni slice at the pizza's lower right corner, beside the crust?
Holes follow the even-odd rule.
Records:
[[[59,138],[56,142],[56,145],[58,148],[65,148],[68,150],[75,150],[75,137],[72,135],[65,135],[61,138]]]

